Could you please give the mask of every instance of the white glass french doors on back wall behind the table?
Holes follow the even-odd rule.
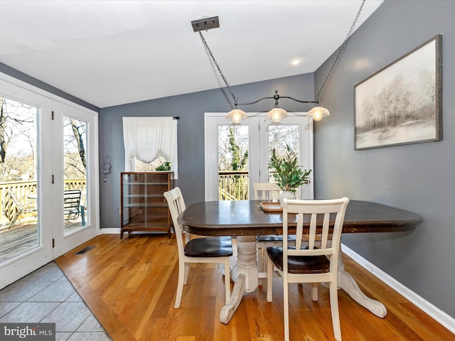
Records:
[[[289,145],[299,163],[313,169],[313,121],[304,113],[294,113],[273,123],[265,115],[250,113],[240,124],[233,124],[225,113],[205,113],[205,200],[247,200],[252,183],[272,182],[267,166],[274,148],[279,151]],[[313,198],[312,175],[310,183],[299,188],[300,198]],[[225,185],[225,177],[235,178],[231,180],[235,190]],[[242,178],[247,188],[243,191]]]

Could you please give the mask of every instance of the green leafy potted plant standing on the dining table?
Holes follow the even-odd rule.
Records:
[[[279,188],[296,193],[299,186],[308,183],[311,169],[308,171],[303,169],[297,163],[298,160],[294,151],[291,151],[288,145],[286,147],[287,153],[283,157],[277,156],[275,150],[272,151],[272,158],[270,158],[268,168],[275,171],[273,177]]]

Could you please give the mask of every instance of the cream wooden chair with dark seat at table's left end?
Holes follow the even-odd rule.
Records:
[[[176,233],[178,247],[178,284],[176,303],[179,308],[183,294],[183,285],[188,280],[188,270],[191,263],[218,263],[224,265],[225,301],[230,299],[230,269],[229,257],[232,256],[231,237],[205,237],[191,239],[191,234],[184,232],[178,222],[178,215],[186,209],[180,188],[176,187],[164,193],[171,212],[173,229]],[[183,238],[183,234],[185,237]]]

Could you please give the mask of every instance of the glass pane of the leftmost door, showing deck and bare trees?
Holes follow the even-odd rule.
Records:
[[[38,220],[39,109],[0,97],[0,264],[41,246]]]

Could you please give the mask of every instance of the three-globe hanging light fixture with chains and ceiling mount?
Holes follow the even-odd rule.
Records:
[[[280,96],[278,94],[278,90],[275,90],[275,94],[272,97],[262,97],[260,99],[257,99],[255,102],[250,102],[250,103],[238,103],[237,97],[235,97],[235,94],[232,92],[232,90],[228,84],[228,81],[226,80],[226,77],[223,75],[223,72],[220,69],[220,65],[218,65],[217,61],[215,60],[215,57],[213,56],[213,53],[210,50],[210,48],[208,47],[208,44],[205,41],[205,38],[201,32],[201,30],[205,30],[205,32],[207,32],[211,28],[220,27],[220,21],[218,19],[218,16],[214,16],[211,18],[204,18],[204,19],[200,19],[200,20],[196,20],[196,21],[191,21],[191,26],[193,27],[193,31],[196,33],[199,33],[200,40],[202,40],[205,50],[207,50],[208,54],[210,55],[210,58],[212,58],[213,63],[217,67],[221,78],[223,78],[223,81],[225,82],[225,85],[228,88],[228,91],[230,92],[232,99],[234,100],[234,108],[230,112],[228,112],[228,114],[226,115],[226,119],[232,120],[232,122],[234,122],[235,124],[240,123],[242,121],[242,119],[246,119],[248,116],[247,116],[246,112],[244,112],[242,109],[239,109],[237,106],[255,104],[259,101],[262,101],[263,99],[274,99],[275,100],[275,106],[269,112],[267,112],[267,116],[266,116],[266,119],[270,119],[274,122],[279,122],[280,120],[288,117],[287,111],[279,107],[278,101],[280,98],[292,99],[292,100],[294,100],[296,102],[300,102],[300,103],[319,104],[319,97],[321,96],[322,90],[326,86],[328,78],[331,76],[333,70],[335,69],[335,66],[338,63],[338,60],[341,57],[341,54],[343,53],[343,51],[346,49],[346,46],[348,45],[349,38],[354,31],[355,24],[358,21],[358,18],[360,16],[360,13],[362,12],[364,4],[365,4],[365,0],[362,1],[362,4],[360,5],[360,9],[358,10],[357,15],[355,16],[353,24],[350,26],[348,36],[346,36],[346,39],[343,41],[343,44],[341,44],[341,48],[338,51],[338,55],[336,55],[335,60],[333,60],[333,64],[332,64],[330,70],[328,70],[328,75],[326,76],[326,79],[323,81],[321,89],[316,94],[314,101],[301,101],[300,99],[295,99],[295,98],[292,98],[289,96]],[[309,112],[306,113],[306,117],[311,117],[312,119],[314,119],[314,121],[320,121],[321,119],[323,119],[323,117],[328,117],[329,115],[330,115],[330,112],[328,112],[328,109],[326,109],[324,107],[320,107],[320,106],[315,106],[313,109],[309,110]]]

